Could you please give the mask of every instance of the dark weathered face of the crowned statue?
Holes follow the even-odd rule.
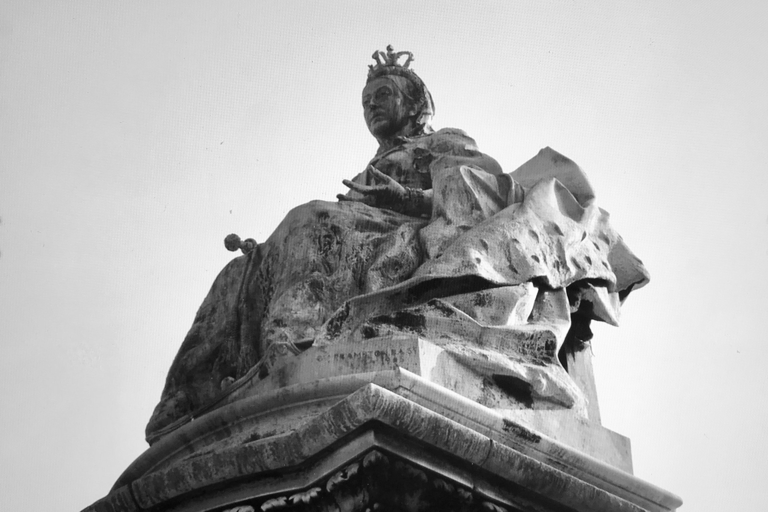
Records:
[[[415,114],[408,99],[385,77],[370,81],[362,89],[362,109],[369,131],[378,139],[407,135],[402,131]]]

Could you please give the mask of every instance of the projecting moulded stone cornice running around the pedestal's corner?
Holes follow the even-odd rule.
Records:
[[[218,436],[220,441],[207,443],[206,450],[197,450],[190,443],[217,428],[229,429],[237,424],[233,420],[242,421],[243,417],[253,416],[254,411],[263,411],[270,397],[251,397],[250,403],[243,400],[201,417],[179,429],[173,438],[147,450],[144,458],[139,457],[118,480],[111,494],[85,510],[221,510],[241,500],[266,499],[302,489],[309,492],[308,486],[327,480],[343,464],[373,448],[405,457],[415,467],[432,467],[442,477],[463,482],[468,489],[482,491],[488,500],[513,510],[662,512],[680,506],[680,499],[673,494],[521,424],[505,421],[467,399],[463,399],[462,407],[454,409],[465,409],[464,423],[471,426],[378,384],[363,379],[354,384],[350,376],[344,377],[329,379],[325,385],[337,387],[336,391],[346,397],[296,425],[293,431],[255,441],[223,431]],[[379,375],[378,380],[388,381],[388,387],[399,388],[402,394],[409,391],[421,397],[431,396],[438,406],[446,397],[452,401],[462,398],[406,371]],[[358,388],[349,394],[349,388],[355,385]],[[322,384],[316,383],[314,391],[318,386]],[[438,406],[435,409],[441,408]],[[497,428],[490,426],[494,422]],[[419,453],[425,455],[416,457]],[[429,460],[438,462],[429,464]],[[495,484],[488,483],[491,481]],[[520,492],[505,497],[505,489]],[[526,500],[551,505],[531,508],[525,505]]]

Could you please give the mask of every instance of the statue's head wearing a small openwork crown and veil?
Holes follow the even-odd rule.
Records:
[[[408,55],[402,65],[398,59]],[[363,115],[372,135],[379,141],[396,136],[413,136],[432,133],[430,121],[435,112],[432,95],[424,82],[409,65],[411,52],[387,52],[373,54],[376,65],[370,65],[368,81],[362,90]]]

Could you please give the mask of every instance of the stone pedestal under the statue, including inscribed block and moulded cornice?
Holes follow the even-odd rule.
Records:
[[[153,444],[85,510],[680,506],[632,476],[626,437],[545,403],[478,404],[488,383],[472,378],[415,336],[276,358]]]

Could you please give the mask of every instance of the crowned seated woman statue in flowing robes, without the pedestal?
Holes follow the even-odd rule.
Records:
[[[263,244],[241,244],[174,359],[147,441],[268,371],[273,347],[397,333],[434,341],[485,379],[481,403],[518,382],[539,404],[584,409],[558,354],[589,341],[591,320],[617,323],[647,282],[641,261],[572,161],[545,148],[505,174],[463,131],[432,130],[409,52],[374,58],[362,106],[379,151],[338,202],[303,204]]]

